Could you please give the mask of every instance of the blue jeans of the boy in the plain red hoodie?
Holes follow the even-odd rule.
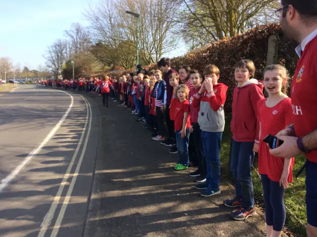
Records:
[[[254,142],[236,142],[232,139],[230,169],[236,186],[236,197],[242,205],[254,207],[251,165],[254,159]]]

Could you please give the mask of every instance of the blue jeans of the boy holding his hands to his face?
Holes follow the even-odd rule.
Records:
[[[222,132],[202,131],[204,154],[207,163],[208,189],[219,189],[220,187],[220,149]]]

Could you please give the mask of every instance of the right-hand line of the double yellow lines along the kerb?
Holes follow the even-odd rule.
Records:
[[[84,99],[84,97],[83,97],[83,99]],[[86,99],[84,99],[84,100],[85,100],[86,106],[87,106],[87,103],[88,103],[89,112],[90,112],[90,120],[89,120],[89,126],[88,126],[87,135],[86,135],[86,141],[85,141],[81,156],[79,158],[75,173],[73,174],[73,178],[72,178],[70,186],[68,188],[66,197],[64,199],[63,205],[61,206],[59,214],[57,216],[56,223],[55,223],[55,225],[53,227],[53,231],[52,231],[51,237],[56,237],[57,234],[58,234],[61,222],[62,222],[63,217],[65,215],[65,211],[66,211],[69,199],[71,197],[71,193],[73,192],[73,189],[74,189],[74,186],[75,186],[75,183],[76,183],[76,179],[78,177],[78,173],[79,173],[79,170],[80,170],[80,166],[81,166],[81,163],[83,161],[83,158],[84,158],[84,155],[85,155],[85,151],[86,151],[86,148],[87,148],[87,143],[88,143],[90,130],[91,130],[91,123],[92,123],[92,111],[91,111],[91,106],[90,106],[89,102],[86,102]]]

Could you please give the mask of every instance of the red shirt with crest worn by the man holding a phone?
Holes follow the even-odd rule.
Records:
[[[297,62],[291,86],[293,124],[297,137],[304,137],[317,129],[317,37],[311,40]],[[304,154],[317,163],[317,149]]]

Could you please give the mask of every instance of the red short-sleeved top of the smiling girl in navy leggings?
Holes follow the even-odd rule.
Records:
[[[269,108],[265,105],[266,99],[258,102],[258,118],[261,123],[261,138],[259,145],[259,173],[266,174],[272,181],[279,182],[284,167],[284,158],[274,157],[269,153],[269,148],[263,139],[268,135],[276,135],[280,130],[292,123],[292,102],[285,98],[277,105]],[[293,182],[292,168],[294,158],[289,168],[288,182]]]

